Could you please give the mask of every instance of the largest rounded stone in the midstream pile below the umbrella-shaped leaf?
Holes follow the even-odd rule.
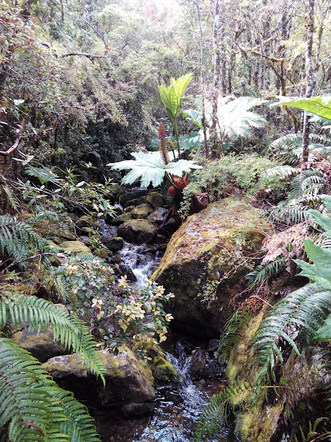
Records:
[[[157,225],[148,220],[130,220],[121,224],[117,234],[124,240],[143,244],[143,242],[152,242],[157,233]]]

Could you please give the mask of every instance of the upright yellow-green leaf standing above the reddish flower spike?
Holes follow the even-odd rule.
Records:
[[[161,100],[165,106],[165,110],[168,112],[170,117],[176,118],[179,113],[179,108],[181,107],[181,99],[183,98],[185,89],[190,84],[192,80],[192,74],[183,75],[179,79],[170,79],[170,85],[165,86],[160,84],[158,86]]]

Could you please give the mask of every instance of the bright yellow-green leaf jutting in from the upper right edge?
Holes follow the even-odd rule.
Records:
[[[331,95],[320,95],[319,97],[300,98],[300,97],[279,97],[283,106],[301,109],[319,115],[325,119],[331,119]]]

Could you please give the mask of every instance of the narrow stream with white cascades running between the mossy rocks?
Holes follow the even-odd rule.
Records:
[[[116,236],[117,228],[100,222],[100,229],[105,236]],[[137,245],[124,243],[121,262],[128,265],[137,278],[136,287],[146,286],[157,268],[161,256],[150,244]],[[221,391],[222,380],[201,380],[193,382],[190,378],[190,364],[194,354],[188,352],[185,343],[171,338],[167,345],[168,359],[179,374],[179,383],[166,383],[156,386],[154,410],[142,416],[124,416],[121,412],[101,410],[95,412],[94,419],[102,442],[191,442],[199,416],[213,394]],[[168,342],[168,341],[167,341]],[[176,356],[174,356],[176,354]],[[221,376],[220,376],[221,377]],[[237,442],[233,427],[223,427],[208,442]]]

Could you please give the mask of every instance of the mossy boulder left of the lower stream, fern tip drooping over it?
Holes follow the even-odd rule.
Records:
[[[154,400],[154,378],[150,368],[130,349],[117,356],[100,350],[101,361],[106,364],[106,386],[92,374],[89,367],[77,361],[73,354],[51,358],[43,364],[54,381],[90,407],[123,408],[128,404],[148,403]],[[147,405],[148,408],[148,405]]]

